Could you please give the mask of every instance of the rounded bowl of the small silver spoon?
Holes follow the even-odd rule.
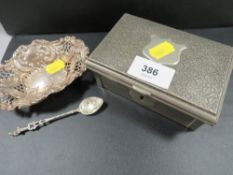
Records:
[[[103,99],[99,97],[85,98],[79,105],[79,112],[83,115],[94,114],[102,107],[103,103]]]

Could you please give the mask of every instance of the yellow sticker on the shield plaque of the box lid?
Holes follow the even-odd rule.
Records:
[[[155,45],[149,49],[149,54],[156,60],[160,60],[163,57],[171,54],[175,51],[174,46],[168,41],[163,41],[160,44]]]

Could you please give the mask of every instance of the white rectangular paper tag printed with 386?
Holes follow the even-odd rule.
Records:
[[[133,77],[164,89],[169,88],[175,72],[175,69],[140,56],[134,58],[127,71],[127,73]]]

